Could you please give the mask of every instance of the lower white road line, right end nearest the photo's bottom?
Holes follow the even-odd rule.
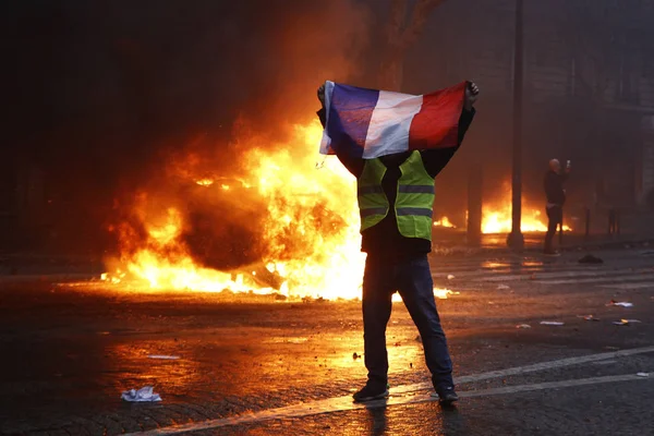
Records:
[[[592,377],[592,378],[581,378],[581,379],[570,379],[570,380],[561,380],[561,382],[548,382],[548,383],[537,383],[532,385],[518,385],[518,386],[506,386],[501,388],[492,388],[492,389],[482,389],[482,390],[471,390],[471,391],[462,391],[459,393],[461,398],[476,398],[476,397],[489,397],[496,395],[507,395],[507,393],[518,393],[518,392],[531,392],[536,390],[546,390],[546,389],[559,389],[567,387],[577,387],[577,386],[589,386],[589,385],[598,385],[605,383],[619,383],[619,382],[647,382],[653,378],[643,378],[639,377],[635,374],[626,374],[626,375],[609,375],[604,377]],[[286,408],[279,409],[270,409],[264,410],[261,412],[254,412],[243,415],[237,415],[231,417],[222,417],[218,420],[210,420],[201,423],[191,423],[178,426],[162,427],[143,433],[129,433],[125,436],[136,436],[136,435],[175,435],[181,433],[189,432],[198,432],[206,429],[214,429],[219,427],[227,427],[232,425],[240,424],[252,424],[264,421],[272,421],[272,420],[288,420],[292,417],[304,417],[312,416],[323,413],[334,413],[334,412],[343,412],[351,411],[358,409],[377,409],[384,408],[387,405],[401,405],[401,404],[419,404],[425,402],[434,402],[438,401],[438,398],[421,395],[421,396],[403,396],[403,397],[390,397],[388,399],[371,401],[365,404],[354,403],[352,402],[352,397],[336,397],[329,398],[326,400],[318,400],[303,404],[290,405]]]

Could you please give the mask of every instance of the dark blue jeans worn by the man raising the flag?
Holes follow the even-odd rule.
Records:
[[[453,386],[452,362],[436,311],[426,254],[391,261],[368,255],[363,276],[363,338],[368,383],[387,384],[386,325],[396,290],[420,331],[434,387],[439,390]]]

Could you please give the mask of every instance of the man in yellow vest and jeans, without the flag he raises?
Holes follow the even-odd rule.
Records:
[[[356,177],[361,209],[361,250],[367,253],[363,275],[363,338],[366,385],[354,393],[358,402],[388,396],[386,325],[392,294],[402,301],[422,338],[432,383],[443,403],[457,401],[452,362],[434,300],[434,282],[427,254],[432,251],[434,179],[452,158],[472,123],[479,88],[468,83],[451,146],[393,153],[378,158],[355,157],[336,149],[343,166]],[[327,123],[325,87],[318,89]],[[433,123],[443,120],[429,120]],[[448,143],[449,144],[449,143]]]

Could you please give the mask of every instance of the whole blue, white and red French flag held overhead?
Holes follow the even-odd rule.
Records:
[[[325,82],[326,123],[320,154],[373,159],[413,149],[458,145],[468,82],[409,95]]]

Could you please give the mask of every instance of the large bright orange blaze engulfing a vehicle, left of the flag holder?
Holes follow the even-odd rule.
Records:
[[[365,257],[360,253],[355,180],[336,158],[326,159],[316,169],[319,123],[296,125],[293,132],[289,144],[272,144],[265,150],[258,148],[257,137],[240,138],[239,146],[246,150],[241,162],[243,171],[229,180],[241,186],[221,182],[216,183],[220,194],[207,191],[229,206],[254,205],[251,228],[263,222],[253,230],[263,241],[259,264],[217,270],[198,263],[184,239],[192,227],[184,207],[189,199],[171,197],[162,189],[161,193],[155,190],[137,195],[131,210],[135,222],[125,221],[114,228],[121,267],[104,279],[130,282],[138,290],[359,298]],[[190,183],[210,190],[217,180],[228,180],[186,177]],[[250,225],[244,221],[240,225]]]

